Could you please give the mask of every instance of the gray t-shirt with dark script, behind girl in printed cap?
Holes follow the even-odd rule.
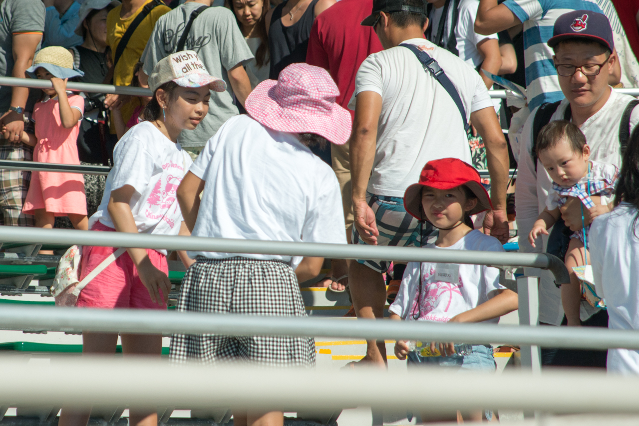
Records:
[[[201,3],[185,3],[160,17],[140,59],[144,63],[142,70],[146,75],[151,75],[160,59],[174,52],[191,12],[200,6]],[[226,91],[211,92],[208,114],[196,130],[184,130],[180,134],[181,146],[202,148],[227,119],[238,114],[238,108],[233,104],[233,90],[227,70],[250,61],[253,55],[244,41],[235,15],[224,7],[212,7],[200,13],[191,26],[184,49],[195,50],[208,73],[226,82]]]

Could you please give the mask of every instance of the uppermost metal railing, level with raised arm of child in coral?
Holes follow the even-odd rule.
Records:
[[[35,89],[50,89],[52,86],[49,80],[38,79],[19,79],[17,77],[0,77],[0,86],[20,86],[20,87],[33,87]],[[91,83],[76,83],[68,82],[66,89],[76,92],[92,92],[92,93],[115,93],[117,95],[130,95],[130,96],[151,96],[150,89],[144,87],[130,87],[130,86],[113,86],[112,84],[91,84]],[[624,93],[631,96],[639,96],[639,88],[629,89],[613,89],[618,93]],[[506,98],[505,90],[489,90],[491,98]]]

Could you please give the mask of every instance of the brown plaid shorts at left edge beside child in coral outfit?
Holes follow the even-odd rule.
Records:
[[[33,148],[25,144],[13,144],[0,138],[0,159],[32,161]],[[22,204],[29,191],[31,172],[0,169],[0,225],[33,226],[33,215],[22,213]]]

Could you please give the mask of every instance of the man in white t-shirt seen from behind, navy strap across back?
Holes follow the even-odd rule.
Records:
[[[376,0],[373,14],[362,25],[374,27],[385,50],[371,54],[360,66],[349,105],[355,109],[350,139],[353,243],[426,244],[430,225],[419,224],[408,215],[401,197],[429,160],[454,157],[471,161],[466,137],[469,117],[486,144],[491,173],[495,211],[486,215],[484,228],[505,242],[508,151],[481,77],[459,57],[424,39],[423,1]],[[416,52],[399,46],[402,43]],[[445,72],[454,87],[452,93],[424,68],[417,56],[423,57],[422,52]],[[351,262],[349,285],[358,317],[383,316],[386,289],[381,274],[388,268],[387,261]],[[383,342],[369,341],[364,361],[384,365]]]

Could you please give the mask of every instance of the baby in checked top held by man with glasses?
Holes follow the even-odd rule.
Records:
[[[539,162],[553,180],[553,188],[548,194],[546,208],[528,234],[532,247],[535,247],[535,240],[541,234],[548,235],[548,229],[561,216],[559,208],[566,203],[568,197],[580,199],[582,225],[585,209],[590,213],[591,219],[612,210],[612,195],[619,179],[619,170],[613,164],[589,160],[590,147],[576,125],[558,120],[544,126],[539,133],[536,152]],[[591,198],[593,195],[601,197],[601,204],[594,203]],[[562,304],[569,326],[580,325],[581,284],[573,268],[589,264],[589,229],[590,225],[587,225],[574,232],[566,253],[565,262],[570,272],[571,284],[562,285]]]

